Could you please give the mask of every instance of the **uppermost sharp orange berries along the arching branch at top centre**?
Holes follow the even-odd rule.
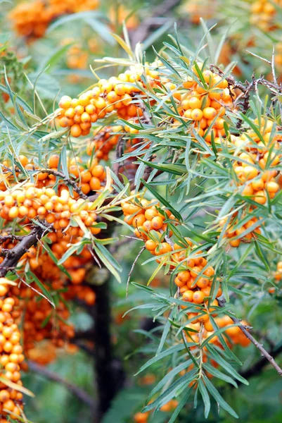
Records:
[[[82,94],[78,99],[63,96],[57,115],[59,125],[63,128],[70,127],[70,134],[74,137],[88,135],[91,123],[115,111],[117,116],[128,121],[129,124],[124,125],[127,133],[139,133],[131,124],[139,123],[143,116],[140,100],[136,96],[142,92],[139,86],[143,84],[141,75],[145,71],[150,85],[158,88],[158,97],[167,99],[169,103],[173,97],[173,101],[177,103],[181,119],[174,118],[174,125],[180,125],[181,120],[187,121],[190,124],[188,132],[194,137],[198,134],[208,143],[212,142],[212,138],[215,142],[220,142],[221,137],[226,135],[222,117],[226,114],[226,108],[233,107],[235,96],[227,80],[212,71],[204,70],[202,63],[196,63],[192,66],[195,78],[188,77],[177,87],[169,78],[155,71],[155,66],[160,66],[160,63],[152,63],[144,69],[132,66],[117,78],[99,80],[97,87]],[[200,73],[204,82],[199,80]],[[139,85],[134,85],[134,82]]]

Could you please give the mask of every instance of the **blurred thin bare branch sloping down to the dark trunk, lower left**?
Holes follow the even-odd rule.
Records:
[[[94,400],[92,400],[91,396],[89,396],[89,393],[86,393],[78,386],[71,384],[69,381],[66,381],[58,373],[52,372],[46,367],[41,366],[41,364],[37,364],[36,362],[32,362],[30,360],[27,360],[27,364],[32,372],[36,372],[41,376],[50,379],[51,381],[58,382],[58,384],[65,386],[65,388],[67,388],[68,391],[70,391],[74,396],[79,398],[79,400],[82,400],[85,404],[89,405],[92,410],[95,410]]]

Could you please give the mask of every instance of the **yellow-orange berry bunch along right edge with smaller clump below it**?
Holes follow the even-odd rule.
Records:
[[[231,142],[236,147],[233,155],[233,171],[238,194],[257,204],[267,204],[276,196],[279,185],[276,170],[281,163],[279,142],[281,135],[270,120],[254,121],[255,130],[248,130],[240,136],[231,135]],[[229,220],[222,219],[219,226],[224,228],[224,236],[229,238],[232,247],[238,247],[241,241],[250,242],[260,234],[259,217],[254,215],[255,204],[245,204],[240,216],[234,212]],[[253,230],[248,231],[249,228]],[[245,233],[248,231],[248,233]]]

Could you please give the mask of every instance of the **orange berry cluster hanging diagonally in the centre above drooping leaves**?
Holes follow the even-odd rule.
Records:
[[[188,307],[183,305],[182,307],[187,309],[188,319],[193,319],[193,322],[205,321],[206,325],[211,325],[207,300],[213,294],[211,287],[214,268],[209,266],[203,257],[203,252],[199,251],[188,238],[184,238],[182,245],[172,242],[169,238],[172,236],[172,231],[167,228],[167,222],[173,222],[175,226],[178,221],[169,210],[160,208],[156,200],[148,202],[141,199],[139,203],[123,202],[122,211],[125,215],[124,221],[134,226],[134,235],[145,241],[146,250],[159,257],[157,262],[163,264],[169,262],[170,269],[179,270],[174,283],[178,287],[181,299],[204,307],[200,307],[198,313],[190,313]],[[215,297],[220,295],[222,290],[218,288]],[[212,305],[217,306],[217,300],[214,300]]]

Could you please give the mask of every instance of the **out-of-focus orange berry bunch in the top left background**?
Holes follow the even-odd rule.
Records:
[[[18,35],[35,39],[43,37],[52,20],[67,13],[91,11],[98,0],[35,0],[15,6],[9,18]]]

